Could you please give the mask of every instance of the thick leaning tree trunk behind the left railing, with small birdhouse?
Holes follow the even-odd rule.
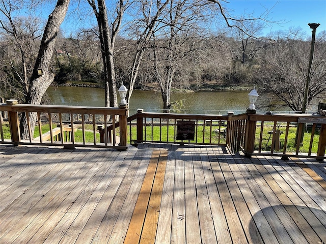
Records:
[[[70,0],[58,0],[53,12],[49,15],[47,24],[44,29],[42,41],[40,44],[39,53],[36,59],[34,70],[30,79],[29,93],[26,97],[28,104],[41,104],[43,95],[46,89],[52,83],[55,75],[49,71],[50,61],[53,51],[55,51],[55,41],[59,32],[61,23],[63,22]],[[38,69],[43,70],[43,75],[38,75]],[[36,114],[30,115],[32,137],[34,134]],[[21,138],[28,138],[28,124],[25,114],[21,117],[20,123]]]

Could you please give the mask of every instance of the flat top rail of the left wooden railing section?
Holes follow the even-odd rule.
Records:
[[[58,106],[58,105],[31,105],[31,104],[0,104],[1,111],[13,112],[51,112],[51,113],[86,113],[86,114],[115,114],[127,115],[127,108],[113,107],[86,107],[86,106]]]

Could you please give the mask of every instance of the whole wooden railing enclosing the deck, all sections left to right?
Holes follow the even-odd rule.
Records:
[[[127,143],[187,143],[227,145],[232,153],[243,151],[247,157],[273,155],[325,159],[326,117],[322,115],[250,112],[239,115],[232,112],[227,115],[170,114],[147,113],[139,109],[138,113],[127,118],[127,108],[20,104],[1,104],[0,108],[1,111],[8,111],[11,133],[11,139],[6,140],[1,123],[1,143],[118,149],[126,149]],[[22,113],[29,117],[33,112],[37,113],[38,138],[33,139],[29,129],[29,139],[21,140],[18,118]],[[63,121],[64,114],[70,118],[67,124]],[[81,121],[76,121],[75,114],[81,115]],[[45,133],[42,133],[40,126],[42,116],[48,119],[49,128]],[[119,116],[118,122],[116,116]],[[59,129],[52,128],[53,117],[59,118]],[[85,117],[93,118],[91,128],[86,128]],[[101,119],[96,121],[98,117]],[[112,121],[107,123],[109,117]],[[98,126],[98,123],[102,125]],[[303,133],[306,130],[309,133]],[[91,140],[86,139],[88,133]],[[77,134],[79,139],[75,138]],[[56,138],[59,138],[58,141]],[[305,151],[303,148],[306,148]]]

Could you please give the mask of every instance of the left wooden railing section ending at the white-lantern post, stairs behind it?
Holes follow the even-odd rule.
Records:
[[[54,145],[64,147],[108,147],[116,149],[127,148],[127,112],[126,107],[107,108],[107,107],[81,107],[81,106],[53,106],[53,105],[26,105],[16,104],[16,100],[9,100],[7,104],[0,104],[1,111],[8,112],[8,120],[10,127],[10,139],[5,139],[5,124],[1,123],[1,143],[3,144],[33,144],[33,145]],[[24,114],[27,118],[28,136],[22,140],[20,135],[20,117]],[[36,113],[36,130],[37,137],[31,131],[31,117]],[[76,114],[80,114],[81,120],[76,121]],[[85,117],[93,118],[91,125],[86,127]],[[47,118],[46,125],[42,125],[42,118]],[[64,121],[63,118],[69,118]],[[107,121],[112,119],[115,125],[115,117],[119,117],[120,126],[117,130],[113,130],[113,140],[111,143],[100,143],[99,134],[97,132],[96,117],[100,117],[101,123],[107,128]],[[53,126],[55,119],[57,125]],[[68,123],[67,123],[68,122]],[[43,123],[44,124],[44,123]],[[46,128],[44,128],[44,126]],[[53,128],[54,127],[54,128]],[[47,132],[45,132],[45,130]],[[106,131],[106,130],[105,130]],[[45,132],[45,133],[43,133]],[[67,134],[68,133],[68,134]],[[107,133],[105,133],[107,137]],[[76,138],[78,137],[78,138]],[[58,140],[58,141],[57,141]]]

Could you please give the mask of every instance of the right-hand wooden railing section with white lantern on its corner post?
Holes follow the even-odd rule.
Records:
[[[229,135],[228,145],[236,148],[235,151],[240,148],[248,157],[277,155],[282,158],[297,156],[325,159],[325,116],[258,113],[247,113],[246,116],[230,118],[232,124],[236,125],[231,130],[235,132]],[[304,130],[306,133],[303,133]],[[305,152],[303,144],[309,145]]]

